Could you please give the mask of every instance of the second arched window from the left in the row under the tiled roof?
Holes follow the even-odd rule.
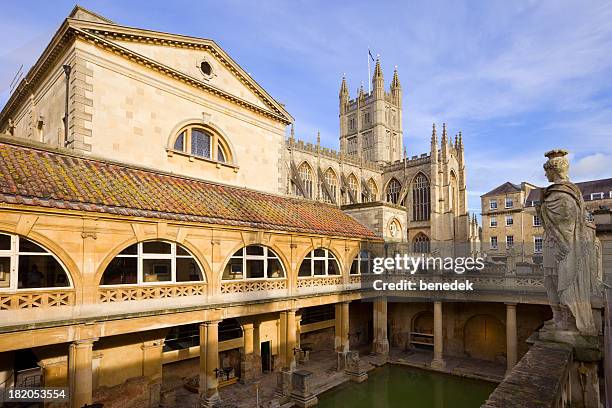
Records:
[[[130,245],[106,267],[100,285],[203,282],[194,256],[174,242],[144,241]]]

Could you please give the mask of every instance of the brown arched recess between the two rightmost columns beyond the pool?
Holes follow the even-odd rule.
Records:
[[[506,354],[506,330],[504,325],[490,315],[471,317],[463,330],[465,353],[473,358],[502,361]]]

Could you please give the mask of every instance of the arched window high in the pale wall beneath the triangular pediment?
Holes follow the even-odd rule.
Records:
[[[231,163],[229,146],[216,132],[202,125],[189,125],[182,128],[172,145],[178,153],[188,154],[219,163]]]

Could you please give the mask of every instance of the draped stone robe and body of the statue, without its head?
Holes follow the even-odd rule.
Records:
[[[540,216],[544,224],[544,270],[557,276],[562,305],[583,334],[596,334],[591,311],[592,234],[587,231],[584,201],[576,185],[555,183],[544,189]]]

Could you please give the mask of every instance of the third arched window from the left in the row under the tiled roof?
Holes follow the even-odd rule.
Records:
[[[240,248],[223,270],[223,280],[284,278],[285,269],[278,255],[262,245]]]

